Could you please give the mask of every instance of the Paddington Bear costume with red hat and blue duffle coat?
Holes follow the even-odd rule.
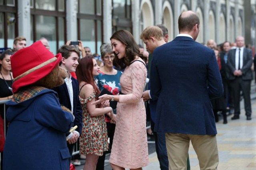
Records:
[[[69,170],[66,133],[74,117],[49,90],[66,78],[61,58],[40,41],[11,56],[14,96],[7,103],[4,170]]]

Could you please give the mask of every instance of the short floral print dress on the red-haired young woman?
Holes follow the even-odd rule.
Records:
[[[83,109],[82,134],[79,138],[80,154],[96,154],[102,156],[104,151],[108,150],[108,133],[104,115],[91,116],[87,109],[87,102],[93,98],[96,100],[96,93],[87,99],[79,96]],[[97,107],[98,105],[96,105]]]

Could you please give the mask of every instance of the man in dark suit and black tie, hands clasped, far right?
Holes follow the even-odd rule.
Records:
[[[227,76],[230,83],[231,92],[234,97],[234,117],[239,119],[240,115],[240,91],[244,96],[244,109],[246,119],[251,120],[251,81],[252,81],[252,50],[244,48],[244,37],[236,37],[236,49],[228,51]]]

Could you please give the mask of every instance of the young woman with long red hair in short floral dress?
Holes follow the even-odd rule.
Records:
[[[95,170],[98,157],[108,150],[108,135],[104,113],[110,118],[113,110],[108,102],[92,105],[97,100],[100,90],[94,76],[97,76],[99,66],[93,57],[84,57],[78,62],[76,76],[80,87],[80,102],[83,109],[83,127],[80,136],[80,154],[86,155],[84,170]],[[103,107],[102,107],[103,105]]]

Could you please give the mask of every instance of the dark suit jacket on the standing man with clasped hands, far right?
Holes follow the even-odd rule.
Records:
[[[244,48],[243,53],[243,66],[241,68],[242,71],[242,80],[252,80],[252,50]],[[227,76],[228,80],[234,80],[236,76],[234,76],[233,72],[236,70],[236,49],[231,49],[228,51],[228,62],[227,62]]]

